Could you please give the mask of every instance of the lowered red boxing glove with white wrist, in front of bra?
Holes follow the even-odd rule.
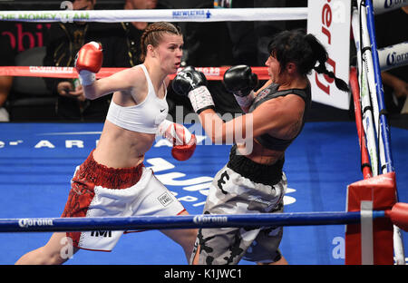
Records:
[[[173,144],[171,155],[175,160],[187,161],[196,150],[196,136],[181,124],[164,120],[160,123],[159,133]]]

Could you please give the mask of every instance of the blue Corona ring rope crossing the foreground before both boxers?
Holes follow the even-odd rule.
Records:
[[[384,210],[373,218],[384,218]],[[113,218],[0,219],[0,232],[63,232],[135,229],[193,229],[262,226],[341,225],[359,223],[360,211],[292,212],[236,215],[135,216]]]

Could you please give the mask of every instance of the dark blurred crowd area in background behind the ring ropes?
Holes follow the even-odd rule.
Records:
[[[1,10],[61,10],[62,1],[3,1]],[[181,9],[306,7],[306,0],[75,0],[75,10]],[[408,40],[406,9],[377,17],[378,47]],[[393,19],[391,21],[390,19]],[[402,23],[399,33],[389,33],[389,23]],[[149,23],[28,23],[0,22],[0,65],[3,66],[73,66],[83,44],[98,41],[103,47],[102,67],[131,67],[141,63],[140,36]],[[184,34],[182,66],[218,67],[235,64],[264,66],[269,54],[267,44],[273,34],[285,29],[303,28],[302,21],[258,22],[182,22],[176,23]],[[353,48],[353,44],[351,44]],[[351,53],[353,54],[353,52]],[[351,61],[353,62],[353,61]],[[407,66],[385,74],[384,91],[387,110],[401,114],[408,93]],[[71,90],[67,95],[65,90]],[[217,112],[240,112],[233,96],[220,81],[209,81]],[[76,80],[0,76],[0,121],[2,122],[103,122],[111,96],[95,101],[84,98]],[[176,106],[184,114],[192,112],[185,97],[171,91],[167,100],[170,115]],[[352,108],[353,103],[350,103]],[[180,108],[181,107],[181,108]],[[318,105],[309,120],[354,119],[353,109],[341,111]]]

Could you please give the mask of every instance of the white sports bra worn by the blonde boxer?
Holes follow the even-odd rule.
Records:
[[[141,66],[146,75],[149,87],[145,100],[132,106],[120,106],[112,100],[106,119],[129,131],[156,133],[158,126],[166,119],[169,112],[169,105],[166,102],[167,90],[165,87],[163,99],[157,97],[146,66],[143,64],[138,66]]]

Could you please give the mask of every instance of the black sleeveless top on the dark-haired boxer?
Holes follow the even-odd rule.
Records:
[[[306,103],[305,105],[305,112],[302,118],[302,126],[300,131],[296,134],[293,139],[290,140],[282,140],[275,138],[267,133],[260,135],[255,138],[257,142],[259,142],[262,146],[269,150],[273,151],[285,151],[287,147],[296,139],[297,135],[302,132],[302,129],[305,125],[306,114],[308,109],[310,108],[312,102],[312,93],[310,89],[310,84],[307,84],[306,88],[304,89],[289,89],[285,91],[278,91],[277,88],[279,85],[277,83],[272,83],[271,85],[267,86],[264,90],[257,94],[257,97],[252,102],[251,107],[249,108],[248,112],[253,112],[257,106],[259,106],[263,102],[267,102],[270,99],[277,98],[279,96],[285,96],[287,94],[296,94],[300,96]]]

